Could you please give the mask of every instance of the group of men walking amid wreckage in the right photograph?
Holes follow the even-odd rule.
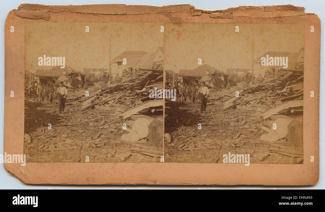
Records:
[[[209,96],[209,88],[205,85],[205,81],[201,82],[201,87],[199,84],[182,82],[179,86],[179,93],[181,95],[181,102],[185,101],[186,98],[190,98],[190,101],[194,104],[195,102],[201,103],[201,113],[206,110],[206,103]]]

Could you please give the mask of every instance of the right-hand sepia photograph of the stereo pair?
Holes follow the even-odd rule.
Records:
[[[304,163],[304,24],[166,23],[164,66],[164,162]]]

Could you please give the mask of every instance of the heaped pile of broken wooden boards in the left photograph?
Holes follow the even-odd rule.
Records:
[[[109,85],[94,91],[83,91],[67,99],[67,104],[81,103],[81,110],[94,108],[98,112],[113,113],[129,118],[133,114],[143,114],[148,111],[162,111],[162,100],[149,101],[149,89],[155,86],[162,88],[163,70],[139,70],[130,77],[110,81]],[[89,88],[88,90],[91,90]],[[86,94],[89,94],[86,96]]]

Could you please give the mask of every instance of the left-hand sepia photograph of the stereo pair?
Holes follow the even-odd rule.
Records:
[[[26,22],[26,162],[160,162],[160,22]]]

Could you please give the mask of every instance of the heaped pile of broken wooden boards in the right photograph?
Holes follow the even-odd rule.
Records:
[[[256,80],[251,86],[239,83],[234,88],[215,93],[212,98],[224,102],[224,110],[236,106],[262,112],[263,118],[267,119],[272,115],[303,110],[303,80],[303,71],[286,71],[272,78]]]

